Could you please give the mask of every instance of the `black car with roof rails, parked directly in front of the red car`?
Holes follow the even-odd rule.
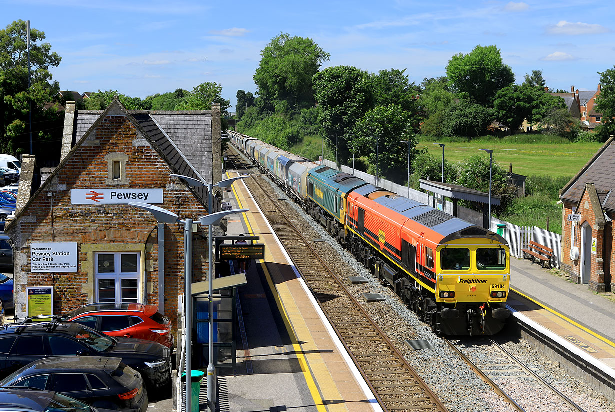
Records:
[[[149,388],[171,379],[171,351],[148,340],[115,338],[76,322],[33,322],[0,327],[0,377],[49,356],[114,356],[138,370]]]

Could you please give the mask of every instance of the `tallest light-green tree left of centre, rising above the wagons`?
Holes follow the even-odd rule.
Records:
[[[329,53],[312,39],[290,37],[281,33],[261,52],[261,61],[254,75],[264,109],[272,110],[276,101],[288,101],[296,108],[314,106],[314,75],[320,71]]]

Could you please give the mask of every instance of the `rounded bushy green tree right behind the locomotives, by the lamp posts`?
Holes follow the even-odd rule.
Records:
[[[403,107],[377,106],[368,111],[354,126],[354,147],[359,155],[367,155],[370,163],[376,166],[376,144],[378,144],[378,167],[381,176],[392,181],[404,182],[408,170],[408,143],[411,157],[416,155],[416,132],[418,118],[403,110]],[[378,142],[378,143],[376,143]]]

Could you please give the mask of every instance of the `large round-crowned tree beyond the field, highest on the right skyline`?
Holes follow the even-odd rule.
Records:
[[[515,74],[510,66],[502,63],[500,50],[495,45],[477,45],[467,55],[454,55],[446,66],[446,77],[453,91],[488,107],[501,88],[515,82]]]

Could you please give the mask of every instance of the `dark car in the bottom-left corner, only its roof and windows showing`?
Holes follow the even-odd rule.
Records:
[[[7,412],[113,412],[95,408],[53,391],[41,391],[29,387],[0,388],[0,411]]]

